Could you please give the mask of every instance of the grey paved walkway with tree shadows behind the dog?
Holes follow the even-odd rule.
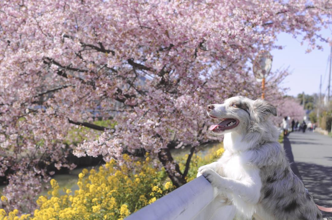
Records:
[[[286,153],[289,143],[296,164],[294,173],[297,167],[316,204],[332,207],[332,138],[312,132],[292,132],[284,141]],[[332,213],[323,212],[323,216],[332,217]]]

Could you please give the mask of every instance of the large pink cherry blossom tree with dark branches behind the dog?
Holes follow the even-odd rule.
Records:
[[[301,35],[309,50],[331,23],[329,1],[12,0],[0,2],[0,175],[23,204],[18,179],[47,180],[66,156],[144,156],[183,185],[196,146],[211,139],[205,106],[234,95],[260,97],[250,63],[281,48],[276,34]],[[275,73],[266,98],[280,102]],[[110,119],[115,128],[94,124]],[[89,137],[64,140],[75,126]],[[170,148],[188,146],[184,171]],[[40,178],[42,177],[42,178]],[[31,181],[33,182],[33,181]],[[18,184],[18,185],[17,185]],[[26,193],[37,195],[26,187]],[[32,196],[33,197],[33,196]]]

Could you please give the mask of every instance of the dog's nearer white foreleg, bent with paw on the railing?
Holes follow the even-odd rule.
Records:
[[[199,172],[216,187],[220,192],[233,193],[234,196],[240,196],[245,202],[256,204],[260,197],[262,187],[259,173],[251,175],[250,181],[238,181],[226,177],[221,177],[214,170],[208,167],[200,167]]]

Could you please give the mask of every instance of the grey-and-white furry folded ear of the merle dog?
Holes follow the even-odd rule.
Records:
[[[251,116],[257,122],[263,122],[268,116],[277,116],[277,109],[264,99],[257,99],[253,103]]]

